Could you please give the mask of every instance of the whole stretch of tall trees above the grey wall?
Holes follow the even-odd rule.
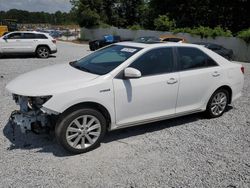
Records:
[[[112,25],[170,30],[220,26],[236,33],[250,27],[250,0],[71,0],[83,27]]]

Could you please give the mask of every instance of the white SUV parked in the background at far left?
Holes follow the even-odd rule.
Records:
[[[50,54],[56,52],[56,40],[46,33],[16,31],[0,38],[0,56],[36,54],[39,58],[48,58]]]

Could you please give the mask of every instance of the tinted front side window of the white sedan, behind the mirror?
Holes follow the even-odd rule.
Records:
[[[139,70],[142,76],[164,74],[173,71],[172,48],[158,48],[146,52],[129,67]]]

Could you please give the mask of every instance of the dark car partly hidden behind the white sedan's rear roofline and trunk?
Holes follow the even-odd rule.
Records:
[[[206,48],[216,52],[217,54],[221,55],[222,57],[232,60],[233,59],[233,50],[224,48],[221,45],[214,44],[214,43],[208,43],[208,42],[197,42],[194,44],[205,46]]]

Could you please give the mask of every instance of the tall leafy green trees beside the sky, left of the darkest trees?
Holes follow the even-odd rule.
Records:
[[[80,26],[92,27],[106,23],[127,27],[140,23],[143,0],[71,0]]]

